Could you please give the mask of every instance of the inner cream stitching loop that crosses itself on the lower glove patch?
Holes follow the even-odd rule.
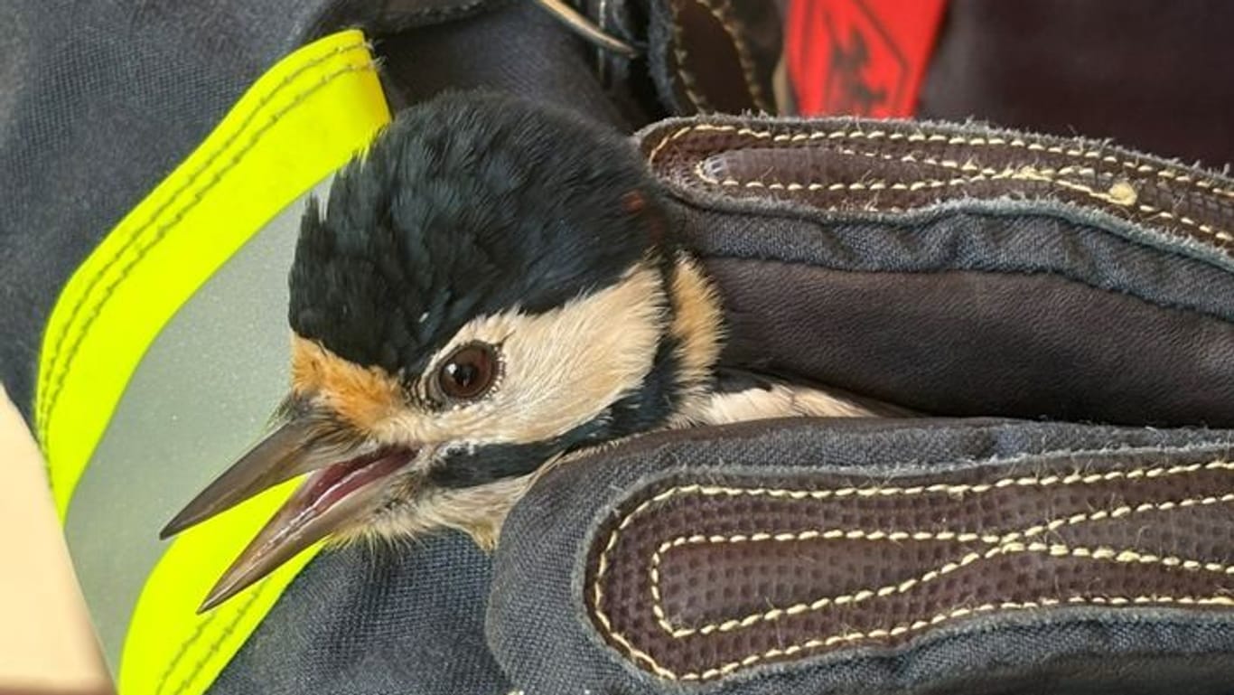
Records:
[[[819,611],[828,606],[840,606],[847,604],[858,604],[872,597],[890,596],[892,594],[903,594],[912,590],[914,586],[921,584],[927,584],[934,581],[935,579],[956,572],[964,567],[967,567],[977,560],[987,560],[1002,554],[1011,553],[1046,553],[1053,557],[1083,557],[1098,560],[1112,560],[1122,563],[1140,563],[1140,564],[1160,564],[1164,567],[1177,567],[1186,570],[1206,570],[1215,572],[1222,574],[1234,575],[1234,567],[1228,567],[1218,563],[1203,563],[1199,560],[1183,559],[1177,557],[1159,557],[1149,553],[1140,553],[1133,549],[1112,549],[1112,548],[1085,548],[1085,547],[1067,547],[1061,543],[1046,544],[1046,543],[1024,543],[1023,539],[1033,538],[1040,536],[1041,533],[1056,531],[1064,526],[1076,526],[1081,523],[1088,523],[1092,521],[1101,521],[1106,518],[1119,518],[1122,516],[1128,516],[1132,514],[1143,514],[1149,511],[1169,511],[1171,509],[1186,509],[1191,506],[1208,506],[1234,501],[1234,493],[1222,495],[1220,497],[1191,497],[1180,500],[1177,502],[1157,502],[1157,504],[1141,504],[1137,506],[1120,506],[1113,510],[1097,510],[1088,514],[1077,514],[1067,517],[1055,518],[1046,523],[1033,526],[1023,531],[1012,531],[1002,536],[998,535],[980,535],[967,531],[863,531],[863,530],[843,530],[843,528],[828,528],[826,531],[803,531],[798,533],[744,533],[733,536],[679,536],[671,541],[666,541],[660,544],[659,548],[652,554],[650,562],[650,579],[652,579],[652,612],[655,614],[656,622],[664,628],[665,632],[675,638],[689,637],[691,635],[710,635],[712,632],[731,632],[733,630],[739,630],[749,627],[752,625],[758,625],[760,622],[775,621],[782,616],[793,616],[805,612]],[[669,620],[664,611],[663,595],[660,591],[660,572],[659,567],[663,560],[663,556],[673,548],[679,548],[682,546],[695,546],[695,544],[727,544],[727,543],[758,543],[758,542],[801,542],[812,539],[849,539],[849,541],[951,541],[955,543],[972,543],[981,542],[991,546],[986,552],[970,552],[963,556],[958,560],[949,562],[938,569],[932,569],[926,572],[921,576],[909,578],[897,584],[888,584],[886,586],[879,586],[875,589],[861,589],[853,594],[844,594],[840,596],[824,596],[817,599],[812,602],[800,602],[785,609],[772,609],[761,614],[750,614],[740,618],[726,620],[719,623],[707,623],[696,627],[676,627]]]

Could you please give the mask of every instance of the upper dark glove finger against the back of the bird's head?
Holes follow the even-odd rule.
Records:
[[[640,146],[724,362],[921,412],[1234,426],[1234,181],[1085,139],[706,116]]]

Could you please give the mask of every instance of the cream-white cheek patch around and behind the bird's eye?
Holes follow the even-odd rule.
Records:
[[[480,400],[442,412],[404,412],[381,430],[426,443],[529,443],[600,416],[638,389],[666,330],[666,298],[654,269],[538,315],[517,310],[466,323],[429,362],[426,378],[459,346],[501,344],[501,375]],[[379,435],[380,436],[380,435]]]

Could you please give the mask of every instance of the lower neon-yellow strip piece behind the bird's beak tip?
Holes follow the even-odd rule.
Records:
[[[117,678],[120,695],[201,695],[320,546],[204,615],[206,593],[299,483],[292,480],[179,536],[137,599]]]

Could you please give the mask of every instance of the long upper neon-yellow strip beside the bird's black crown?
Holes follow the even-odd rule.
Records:
[[[78,268],[47,323],[36,401],[62,518],[142,353],[172,315],[389,120],[363,33],[305,46],[262,75]]]

